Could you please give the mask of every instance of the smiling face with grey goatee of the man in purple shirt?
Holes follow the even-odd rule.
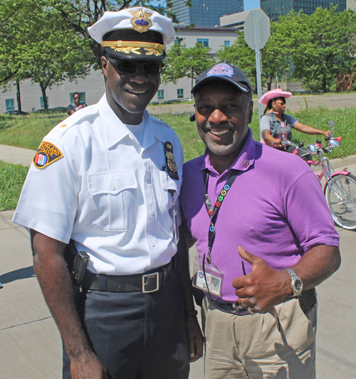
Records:
[[[207,83],[194,95],[198,133],[220,173],[234,163],[244,146],[253,112],[250,96],[222,80]]]

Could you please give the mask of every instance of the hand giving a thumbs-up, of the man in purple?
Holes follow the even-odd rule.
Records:
[[[278,272],[272,269],[262,258],[256,257],[241,246],[239,255],[252,266],[251,274],[236,277],[232,282],[240,305],[250,306],[253,311],[263,313],[293,294],[290,288],[290,274],[286,270]]]

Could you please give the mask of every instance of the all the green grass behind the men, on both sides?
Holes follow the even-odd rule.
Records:
[[[339,149],[335,149],[331,158],[342,158],[356,154],[356,107],[340,110],[306,109],[300,112],[288,112],[303,124],[328,130],[328,121],[335,120],[335,137],[342,136]],[[159,114],[156,117],[167,122],[177,132],[184,149],[184,160],[189,161],[204,153],[205,145],[197,133],[195,122],[189,121],[191,114]],[[0,115],[0,144],[24,147],[36,150],[43,137],[56,124],[67,117],[66,114],[30,115],[26,117]],[[258,112],[253,114],[250,125],[253,138],[259,141]],[[305,146],[315,142],[320,136],[308,136],[293,132],[293,142],[304,142]],[[320,138],[321,139],[321,138]],[[0,210],[16,207],[28,167],[5,164],[0,161]]]

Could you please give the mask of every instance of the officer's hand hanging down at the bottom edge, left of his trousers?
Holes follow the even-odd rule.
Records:
[[[109,379],[106,368],[93,351],[85,356],[70,358],[72,379]]]

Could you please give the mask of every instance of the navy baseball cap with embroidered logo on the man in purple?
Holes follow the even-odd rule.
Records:
[[[228,65],[227,63],[219,63],[219,65],[214,65],[210,70],[204,71],[195,80],[195,85],[190,92],[194,95],[202,85],[216,80],[230,82],[242,92],[252,92],[247,76],[238,67]]]

